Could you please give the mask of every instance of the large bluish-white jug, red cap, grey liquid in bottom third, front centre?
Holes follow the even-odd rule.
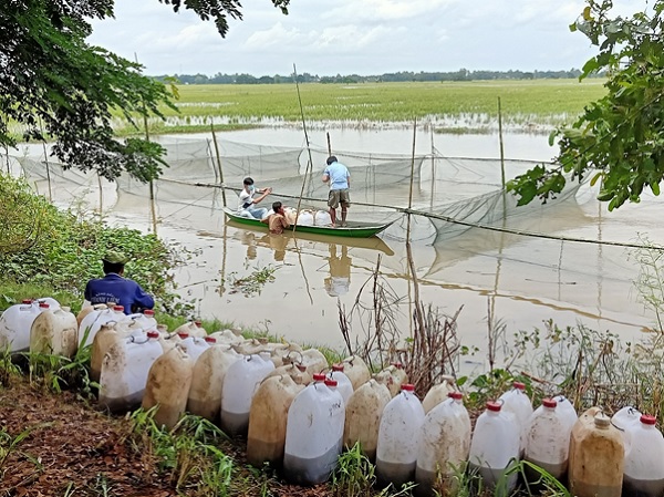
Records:
[[[299,485],[325,482],[342,449],[344,405],[334,380],[315,374],[293,400],[286,425],[283,473]],[[334,389],[334,390],[331,390]]]

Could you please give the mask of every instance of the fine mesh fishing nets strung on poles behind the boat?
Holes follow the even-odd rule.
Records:
[[[253,177],[258,187],[272,187],[269,203],[326,210],[328,185],[322,182],[328,151],[318,147],[263,146],[219,141],[218,151],[210,139],[169,138],[168,167],[155,180],[154,209],[164,220],[208,229],[219,226],[220,208],[236,209],[242,179]],[[510,219],[537,217],[550,206],[531,203],[517,207],[516,198],[505,194],[501,177],[513,177],[538,164],[527,161],[444,157],[437,151],[426,155],[364,154],[334,152],[351,174],[349,219],[370,222],[394,221],[387,236],[406,238],[404,210],[418,215],[411,220],[412,240],[438,244],[473,226],[508,227]],[[8,159],[9,161],[9,159]],[[56,198],[89,195],[102,185],[94,174],[65,169],[45,159],[12,157],[35,190],[56,191]],[[9,164],[9,162],[8,162]],[[9,166],[8,166],[9,167]],[[504,168],[504,172],[502,172]],[[552,203],[574,198],[579,185],[570,185]],[[152,213],[151,186],[128,175],[116,183],[113,205],[106,210]],[[225,188],[224,188],[225,187]],[[89,198],[90,203],[98,203]],[[70,200],[71,201],[71,200]],[[105,201],[108,201],[106,199]],[[267,203],[267,204],[269,204]],[[266,205],[269,208],[269,205]]]

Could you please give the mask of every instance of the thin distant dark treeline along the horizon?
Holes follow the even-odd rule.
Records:
[[[376,76],[361,76],[359,74],[335,76],[319,76],[317,74],[298,74],[300,83],[394,83],[411,81],[487,81],[487,80],[560,80],[579,77],[581,71],[570,69],[569,71],[468,71],[460,69],[454,72],[396,72],[385,73]],[[292,83],[293,76],[260,76],[251,74],[221,74],[214,76],[206,74],[175,74],[173,76],[155,76],[158,81],[173,81],[180,84],[281,84]]]

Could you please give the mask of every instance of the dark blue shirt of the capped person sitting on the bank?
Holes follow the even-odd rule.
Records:
[[[115,272],[107,273],[104,278],[90,280],[85,286],[85,300],[95,303],[115,302],[124,306],[124,313],[131,314],[133,309],[152,309],[155,300],[145,293],[141,286]]]

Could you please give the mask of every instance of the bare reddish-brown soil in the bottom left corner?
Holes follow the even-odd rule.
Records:
[[[9,451],[11,442],[3,432],[17,442]],[[128,432],[129,421],[96,411],[73,392],[53,394],[24,377],[12,377],[10,386],[0,385],[0,497],[178,495],[156,458],[132,448]],[[235,459],[239,478],[251,475],[241,442],[221,448]],[[328,485],[266,480],[268,495],[274,497],[332,495]],[[232,494],[261,491],[249,485],[246,493]]]

